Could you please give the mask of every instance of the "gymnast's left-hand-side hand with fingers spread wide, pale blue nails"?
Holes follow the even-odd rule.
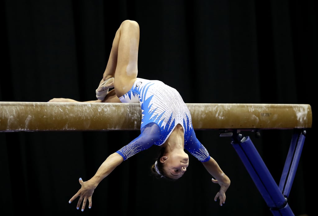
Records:
[[[82,212],[86,206],[86,200],[88,200],[88,208],[92,207],[92,195],[96,188],[95,184],[88,181],[83,181],[82,178],[79,178],[79,184],[81,184],[81,188],[79,191],[68,201],[69,203],[73,202],[77,197],[79,197],[79,201],[77,202],[76,208],[79,209],[81,202],[83,201],[82,205]]]

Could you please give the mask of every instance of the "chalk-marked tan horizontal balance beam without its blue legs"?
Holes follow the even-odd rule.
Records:
[[[194,129],[311,128],[308,104],[187,103]],[[140,130],[139,103],[0,102],[0,131]]]

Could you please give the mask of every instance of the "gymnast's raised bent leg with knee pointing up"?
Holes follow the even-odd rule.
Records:
[[[103,79],[100,81],[100,85],[102,85],[107,81],[111,82],[114,77],[114,91],[117,97],[126,94],[137,78],[138,46],[138,23],[131,20],[123,21],[116,31]],[[96,89],[97,98],[99,98],[98,90]],[[108,89],[105,90],[107,91],[106,96]],[[104,95],[100,95],[99,99],[103,100],[102,96]],[[107,100],[104,102],[107,102]]]

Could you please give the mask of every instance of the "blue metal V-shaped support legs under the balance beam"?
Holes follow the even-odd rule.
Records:
[[[232,135],[232,146],[238,153],[274,216],[294,216],[293,211],[287,203],[287,197],[300,159],[305,140],[304,134],[304,132],[295,133],[292,137],[280,180],[280,187],[277,186],[251,139],[248,136],[244,137],[242,134],[238,134],[236,131]]]

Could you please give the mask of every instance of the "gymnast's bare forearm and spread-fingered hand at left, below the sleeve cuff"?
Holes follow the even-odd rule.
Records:
[[[79,209],[81,202],[83,201],[82,211],[84,211],[86,206],[86,200],[89,201],[88,208],[92,207],[92,195],[98,184],[107,177],[118,165],[124,161],[120,154],[113,153],[107,157],[107,159],[100,165],[95,175],[88,181],[83,181],[79,179],[79,184],[81,188],[75,195],[70,199],[69,203],[73,202],[77,197],[79,201],[77,202],[77,209]]]

